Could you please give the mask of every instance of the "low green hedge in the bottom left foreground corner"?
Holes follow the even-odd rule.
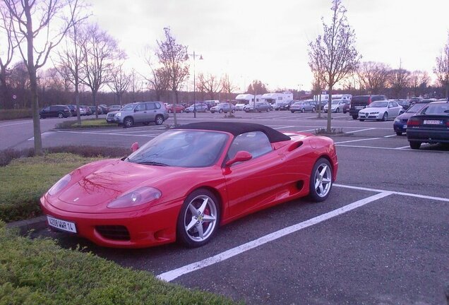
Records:
[[[18,237],[1,221],[0,249],[0,304],[232,304],[51,239]]]

